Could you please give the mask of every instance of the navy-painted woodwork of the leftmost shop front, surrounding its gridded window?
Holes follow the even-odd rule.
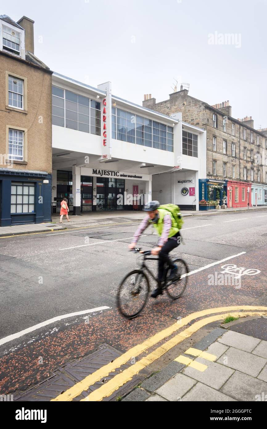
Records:
[[[48,184],[44,184],[44,180],[48,180]],[[31,213],[11,213],[11,186],[18,182],[34,184],[34,210]],[[51,196],[51,174],[0,169],[0,226],[51,222]]]

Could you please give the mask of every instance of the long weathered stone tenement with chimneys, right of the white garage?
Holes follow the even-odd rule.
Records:
[[[183,121],[207,131],[207,181],[224,184],[228,206],[264,204],[267,133],[255,130],[251,117],[232,118],[229,101],[211,106],[189,96],[183,86],[169,100],[156,103],[151,95],[144,98],[144,107],[165,115],[182,112]],[[267,187],[265,199],[267,203]]]

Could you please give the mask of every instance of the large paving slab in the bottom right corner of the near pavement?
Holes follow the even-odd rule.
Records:
[[[251,375],[235,371],[220,391],[237,401],[254,402],[258,399],[257,395],[262,395],[262,392],[267,393],[267,383]]]

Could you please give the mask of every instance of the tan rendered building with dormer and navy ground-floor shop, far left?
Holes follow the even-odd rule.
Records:
[[[0,226],[51,221],[52,71],[33,23],[0,15]]]

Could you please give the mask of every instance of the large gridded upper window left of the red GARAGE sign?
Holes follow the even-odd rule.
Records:
[[[100,118],[100,103],[98,101],[52,86],[53,125],[100,136]]]

